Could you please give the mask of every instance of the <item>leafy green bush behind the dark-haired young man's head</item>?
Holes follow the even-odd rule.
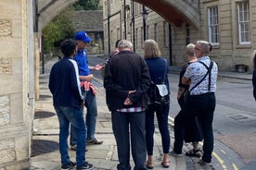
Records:
[[[67,10],[53,18],[43,30],[45,53],[53,51],[55,44],[73,38],[74,27],[68,16],[72,15],[72,11]]]

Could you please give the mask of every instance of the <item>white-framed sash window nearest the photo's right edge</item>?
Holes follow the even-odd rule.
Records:
[[[249,1],[237,2],[237,24],[239,44],[250,44]]]

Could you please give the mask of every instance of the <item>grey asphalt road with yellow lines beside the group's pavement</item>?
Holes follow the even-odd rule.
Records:
[[[106,57],[90,55],[89,64],[104,62]],[[93,72],[102,80],[101,72]],[[179,112],[176,101],[178,72],[169,74],[171,110]],[[102,86],[100,82],[98,86]],[[212,164],[220,170],[252,170],[256,167],[256,106],[252,97],[251,80],[220,77],[216,91],[217,105],[213,120],[215,137]]]

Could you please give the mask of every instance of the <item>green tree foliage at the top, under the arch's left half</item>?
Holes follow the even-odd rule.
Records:
[[[99,10],[99,0],[79,0],[73,5],[74,10]]]

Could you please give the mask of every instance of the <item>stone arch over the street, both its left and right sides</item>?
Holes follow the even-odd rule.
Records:
[[[38,0],[38,31],[59,12],[78,0]],[[198,0],[134,0],[156,11],[162,18],[180,27],[186,22],[199,30]]]

